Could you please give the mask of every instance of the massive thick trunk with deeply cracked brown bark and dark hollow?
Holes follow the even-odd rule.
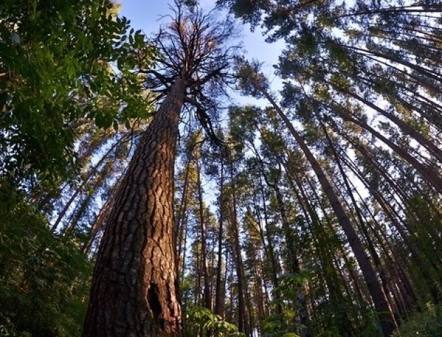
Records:
[[[156,112],[116,195],[83,337],[182,336],[173,248],[173,169],[185,81]]]

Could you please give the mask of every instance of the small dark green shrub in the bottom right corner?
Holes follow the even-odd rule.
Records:
[[[437,337],[442,336],[442,305],[427,303],[425,310],[417,312],[399,328],[401,333],[394,333],[394,337]]]

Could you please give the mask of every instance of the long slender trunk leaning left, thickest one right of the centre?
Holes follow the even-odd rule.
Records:
[[[275,101],[269,95],[269,93],[267,93],[267,91],[261,88],[257,83],[255,83],[255,87],[259,91],[261,91],[261,93],[264,95],[265,98],[267,98],[267,100],[269,100],[270,103],[272,103],[272,106],[279,114],[279,117],[281,117],[281,119],[284,121],[286,127],[292,134],[293,138],[295,138],[298,145],[300,145],[302,152],[304,152],[307,160],[312,165],[312,169],[314,170],[314,173],[316,174],[316,177],[318,178],[324,193],[330,200],[330,205],[332,206],[333,211],[335,211],[337,219],[339,220],[340,225],[342,226],[342,229],[344,230],[347,239],[349,240],[349,244],[354,252],[356,260],[359,263],[359,267],[361,267],[361,272],[363,273],[364,279],[366,280],[368,290],[370,291],[371,298],[373,299],[373,303],[375,305],[375,310],[377,311],[377,315],[380,318],[382,330],[384,331],[384,334],[386,336],[391,336],[391,333],[393,333],[394,329],[396,329],[397,326],[395,324],[393,315],[391,315],[389,303],[387,301],[387,298],[385,297],[384,292],[382,291],[382,287],[377,280],[377,275],[375,270],[373,269],[373,265],[371,265],[370,263],[370,258],[368,257],[367,252],[364,249],[363,244],[358,237],[358,234],[356,233],[356,230],[354,230],[354,227],[351,225],[351,221],[345,213],[344,208],[342,207],[340,200],[335,194],[332,185],[330,184],[328,178],[321,169],[319,162],[309,150],[307,144],[304,142],[300,134],[297,133],[297,131],[293,127],[293,124],[291,124],[290,119],[288,119],[281,108],[276,105]]]

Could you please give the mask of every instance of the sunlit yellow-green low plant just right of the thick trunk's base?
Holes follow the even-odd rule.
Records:
[[[194,307],[187,313],[187,336],[194,336],[192,331],[200,331],[200,336],[241,337],[238,328],[229,322],[226,322],[213,312],[206,308]]]

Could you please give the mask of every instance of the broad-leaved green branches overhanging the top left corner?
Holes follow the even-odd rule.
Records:
[[[112,12],[109,0],[1,1],[0,169],[16,185],[65,177],[85,119],[146,116],[133,70],[155,49]]]

